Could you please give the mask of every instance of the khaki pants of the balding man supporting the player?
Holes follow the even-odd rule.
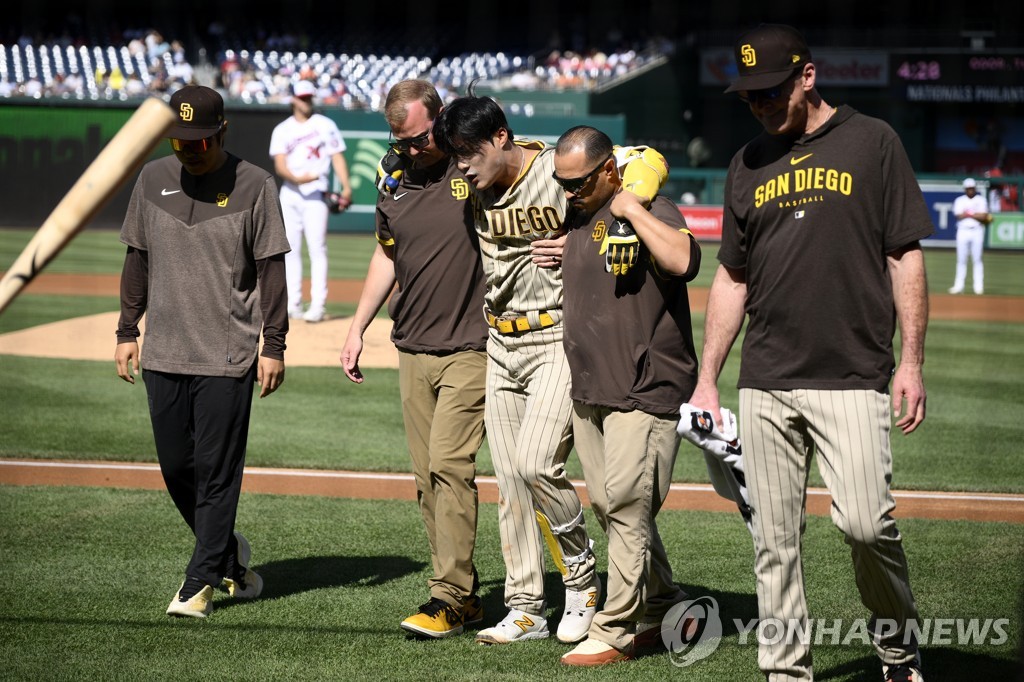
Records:
[[[686,595],[672,582],[654,517],[669,495],[679,418],[572,402],[591,509],[608,534],[608,585],[588,636],[628,649],[638,622],[660,623]]]

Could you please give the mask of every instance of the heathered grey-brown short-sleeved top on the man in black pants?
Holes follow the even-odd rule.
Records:
[[[173,156],[158,159],[135,183],[121,241],[146,252],[142,367],[245,375],[263,325],[257,261],[289,250],[273,178],[231,155],[206,175]]]

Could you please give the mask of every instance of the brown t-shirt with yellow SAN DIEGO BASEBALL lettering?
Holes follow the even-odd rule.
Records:
[[[934,227],[903,145],[841,106],[729,166],[719,260],[746,271],[739,386],[885,391],[896,327],[886,254]]]

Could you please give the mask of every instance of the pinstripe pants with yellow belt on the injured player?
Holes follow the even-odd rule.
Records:
[[[583,505],[565,475],[572,449],[569,367],[562,326],[487,339],[484,425],[498,478],[498,521],[505,558],[505,604],[543,614],[544,555],[536,511],[548,517],[566,560],[567,588],[585,590],[595,559]]]

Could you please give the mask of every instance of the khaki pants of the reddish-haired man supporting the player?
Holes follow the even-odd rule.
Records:
[[[430,596],[455,606],[473,593],[476,452],[483,442],[486,354],[398,353],[406,438],[430,541]]]

